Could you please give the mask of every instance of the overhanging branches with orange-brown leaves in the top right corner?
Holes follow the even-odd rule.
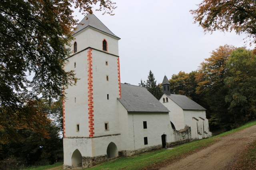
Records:
[[[198,9],[190,10],[194,22],[204,31],[236,31],[248,33],[256,43],[255,0],[203,0]]]

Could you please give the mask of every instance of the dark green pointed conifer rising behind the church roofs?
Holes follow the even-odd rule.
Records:
[[[142,83],[142,80],[140,81],[141,85],[143,86],[144,82]],[[156,85],[155,77],[151,70],[149,71],[148,80],[146,81],[145,87],[151,94],[153,94],[153,96],[155,96],[155,98],[158,100],[161,98],[163,94],[162,88],[160,87],[160,84]]]

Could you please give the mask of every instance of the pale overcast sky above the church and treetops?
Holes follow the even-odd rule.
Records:
[[[201,0],[116,0],[114,16],[95,16],[120,37],[122,83],[138,85],[151,70],[157,83],[179,71],[197,70],[220,45],[249,46],[245,35],[216,31],[204,34],[189,10]],[[84,16],[75,12],[76,19]],[[251,47],[252,48],[252,47]]]

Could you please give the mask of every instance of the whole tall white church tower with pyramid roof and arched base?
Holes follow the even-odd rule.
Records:
[[[65,89],[64,169],[88,168],[117,156],[120,147],[120,38],[94,14],[88,14],[72,36],[71,55],[64,69],[74,70],[79,80]]]

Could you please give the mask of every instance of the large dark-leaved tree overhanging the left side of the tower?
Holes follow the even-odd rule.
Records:
[[[63,70],[70,53],[66,47],[77,24],[71,7],[92,13],[97,3],[97,10],[104,13],[112,14],[116,8],[111,0],[0,1],[1,133],[40,128],[41,115],[34,110],[37,107],[28,108],[30,103],[38,95],[58,99],[63,87],[74,83],[74,72]]]

